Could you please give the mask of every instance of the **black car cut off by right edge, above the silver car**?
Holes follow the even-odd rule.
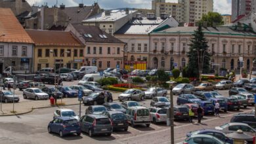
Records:
[[[256,118],[254,114],[251,113],[239,113],[237,115],[234,115],[231,118],[230,122],[243,122],[253,128],[256,128]]]

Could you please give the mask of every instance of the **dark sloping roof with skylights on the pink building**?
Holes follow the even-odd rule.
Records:
[[[93,43],[123,43],[116,37],[102,31],[99,27],[96,26],[83,26],[79,24],[73,25],[76,31],[83,35],[83,39],[86,42],[93,42]],[[91,37],[85,37],[84,34],[89,34]],[[100,35],[106,35],[106,38],[101,38]]]

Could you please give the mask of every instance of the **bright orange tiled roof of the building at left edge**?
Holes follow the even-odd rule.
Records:
[[[11,9],[0,8],[0,42],[33,43]]]

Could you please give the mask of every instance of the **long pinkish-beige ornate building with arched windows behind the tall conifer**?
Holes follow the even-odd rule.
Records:
[[[188,64],[187,52],[192,33],[197,27],[172,27],[150,33],[150,69],[182,69]],[[207,27],[203,33],[211,54],[211,69],[221,67],[238,70],[251,69],[256,56],[256,33],[238,31],[235,27]]]

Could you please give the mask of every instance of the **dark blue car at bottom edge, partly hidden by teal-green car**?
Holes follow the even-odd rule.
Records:
[[[196,130],[194,132],[188,132],[186,133],[186,137],[190,137],[191,135],[195,134],[207,134],[207,135],[212,135],[214,137],[217,137],[221,141],[224,141],[226,143],[232,143],[231,139],[228,139],[228,137],[225,136],[223,132],[220,130],[215,130],[215,129],[202,129],[202,130]]]

